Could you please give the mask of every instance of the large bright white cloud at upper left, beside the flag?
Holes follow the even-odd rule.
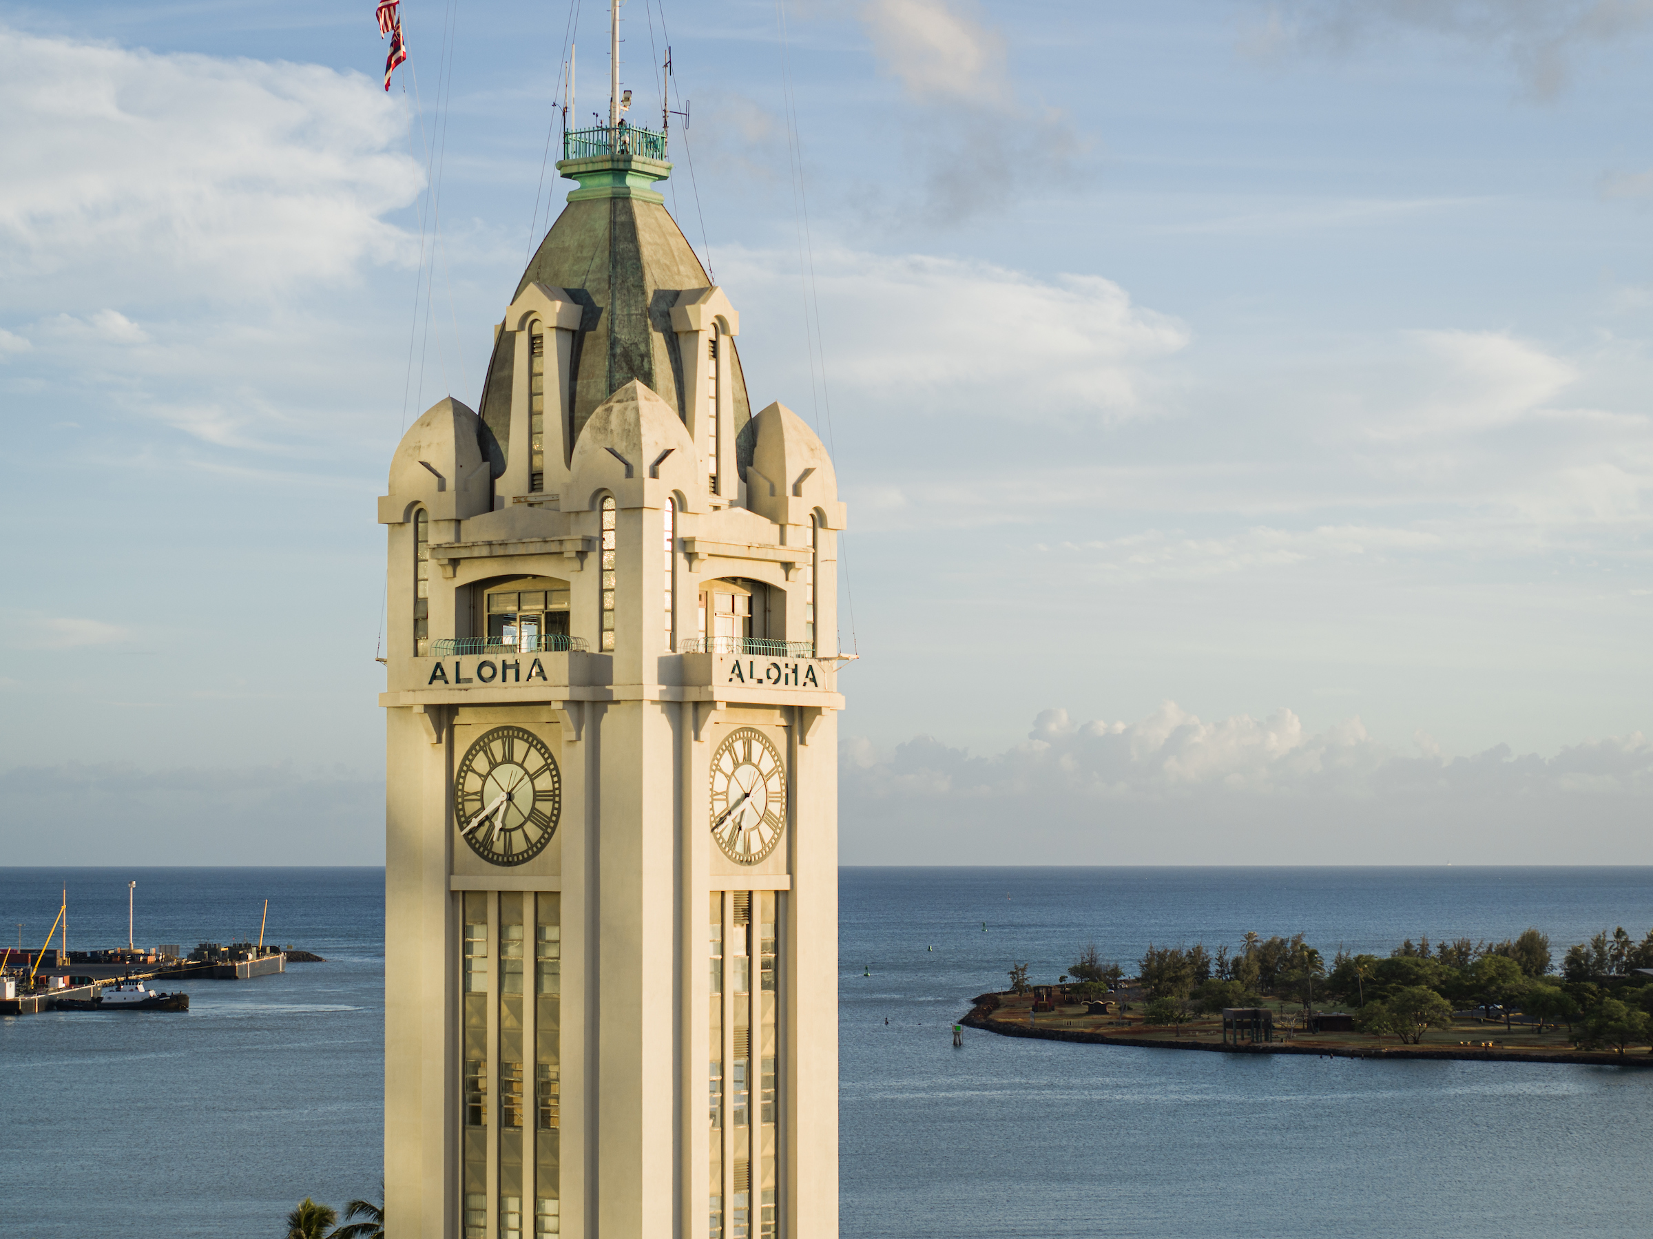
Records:
[[[260,299],[388,259],[422,173],[400,104],[316,64],[0,28],[0,279]],[[84,291],[84,287],[83,287]]]

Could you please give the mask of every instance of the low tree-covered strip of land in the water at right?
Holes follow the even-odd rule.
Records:
[[[1126,976],[1093,943],[1053,985],[1010,966],[960,1023],[1012,1037],[1230,1054],[1493,1059],[1653,1066],[1653,930],[1623,927],[1570,947],[1549,937],[1410,938],[1389,957],[1337,952],[1301,933],[1246,933],[1233,952],[1155,947]]]

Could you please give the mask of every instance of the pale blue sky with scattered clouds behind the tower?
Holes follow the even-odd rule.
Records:
[[[0,0],[0,862],[382,859],[374,497],[607,107],[402,8]],[[845,862],[1653,862],[1653,0],[623,13],[850,506]]]

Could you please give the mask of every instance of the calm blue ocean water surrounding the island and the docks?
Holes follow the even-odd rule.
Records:
[[[192,981],[187,1016],[0,1018],[0,1231],[278,1234],[302,1196],[374,1196],[383,1087],[377,869],[7,869],[0,930],[69,947],[258,933],[327,963]],[[984,928],[985,925],[985,928]],[[950,1028],[1096,942],[1322,950],[1403,937],[1565,945],[1653,925],[1653,869],[845,869],[841,1232],[1643,1236],[1653,1070],[1374,1064],[1058,1042]],[[869,975],[868,975],[869,973]],[[888,1021],[888,1023],[886,1023]]]

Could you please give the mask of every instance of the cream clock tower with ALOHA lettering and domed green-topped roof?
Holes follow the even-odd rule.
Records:
[[[836,477],[653,188],[579,182],[388,545],[398,1239],[838,1234]]]

